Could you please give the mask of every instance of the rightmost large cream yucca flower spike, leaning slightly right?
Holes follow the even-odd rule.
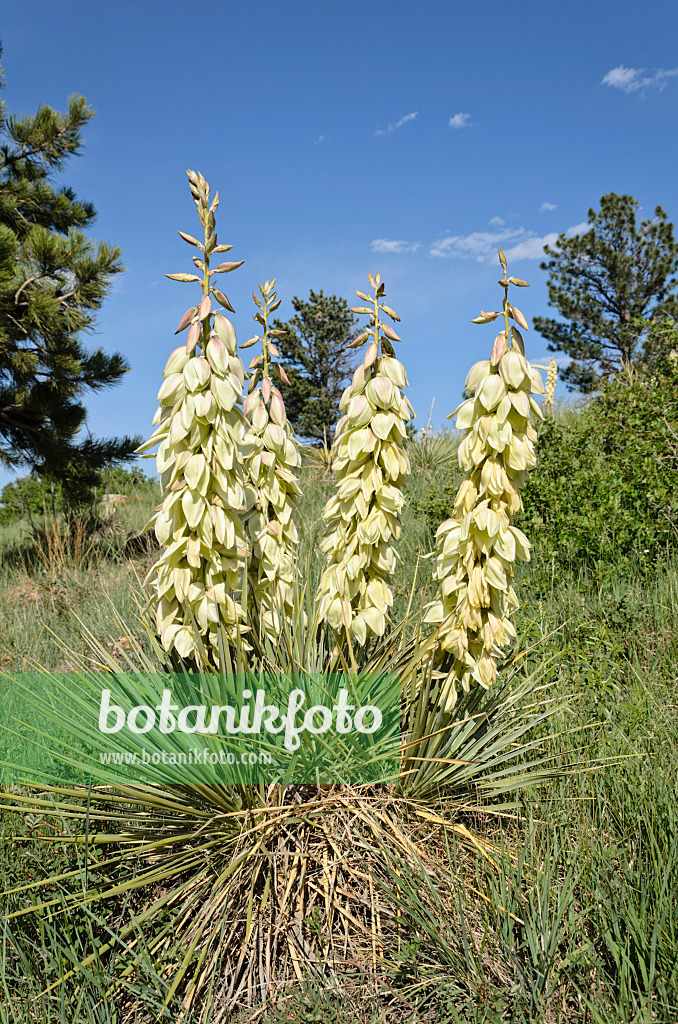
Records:
[[[515,637],[510,622],[518,606],[511,580],[516,560],[529,558],[529,542],[513,525],[521,508],[520,488],[535,465],[537,433],[531,413],[542,416],[534,394],[543,394],[540,373],[527,362],[522,338],[509,321],[527,330],[524,316],[508,301],[509,285],[527,287],[504,276],[505,330],[495,340],[490,359],[476,362],[466,378],[470,393],[452,414],[464,431],[459,465],[466,477],[454,513],[436,534],[437,582],[425,621],[439,624],[440,701],[454,706],[457,691],[473,683],[489,687],[497,676],[497,658]],[[502,312],[481,313],[474,324],[490,324]]]

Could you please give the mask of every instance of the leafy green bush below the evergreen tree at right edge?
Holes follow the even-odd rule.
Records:
[[[545,422],[520,526],[536,555],[592,569],[650,564],[678,541],[678,359],[620,374]]]

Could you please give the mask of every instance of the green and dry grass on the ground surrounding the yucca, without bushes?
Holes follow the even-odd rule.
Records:
[[[422,503],[432,490],[452,487],[451,475],[447,466],[425,460],[413,474],[396,621],[413,587],[415,608],[430,593],[431,561],[423,556],[432,535]],[[309,563],[311,580],[320,564],[320,512],[331,486],[310,476],[305,482],[301,563]],[[151,504],[126,512],[121,537],[140,526]],[[68,656],[46,627],[84,651],[76,614],[99,638],[111,638],[105,642],[124,644],[127,629],[141,636],[135,578],[144,574],[149,559],[130,562],[120,539],[86,556],[63,546],[61,556],[45,560],[26,531],[6,527],[0,552],[5,672],[30,662],[67,668]],[[568,699],[560,717],[537,733],[542,752],[560,765],[560,777],[516,796],[504,817],[468,819],[501,849],[498,863],[460,845],[452,820],[431,825],[433,870],[431,861],[398,864],[392,852],[375,851],[384,864],[381,899],[402,926],[397,942],[384,938],[377,975],[346,978],[336,992],[309,974],[281,993],[277,1007],[256,1016],[243,1011],[235,1020],[674,1024],[678,566],[669,560],[654,572],[640,568],[608,562],[602,573],[556,572],[537,550],[520,569],[516,650],[526,653],[516,668],[526,673],[541,666],[544,684]],[[0,701],[2,685],[0,680]],[[66,819],[55,827],[39,814],[4,814],[0,890],[24,887],[4,898],[5,915],[37,898],[26,886],[56,870],[76,872],[52,890],[57,901],[85,884],[82,851],[59,835],[73,827]],[[384,881],[389,870],[390,884]],[[57,902],[51,910],[5,922],[0,1024],[122,1022],[120,999],[110,993],[110,953],[94,958],[86,978],[40,993],[74,955],[102,947],[140,909],[121,897],[111,900],[108,914],[91,907],[75,915]],[[137,1006],[129,1019],[177,1020],[175,1001],[158,1016],[165,995],[162,948],[152,951],[152,938],[142,935],[137,970],[128,979],[127,994]],[[213,1019],[220,1019],[216,1009]]]

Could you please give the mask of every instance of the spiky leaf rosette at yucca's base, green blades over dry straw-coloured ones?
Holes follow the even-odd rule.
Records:
[[[279,645],[265,638],[262,671],[314,673],[332,659],[294,613]],[[129,626],[120,628],[133,637]],[[104,962],[110,992],[131,1010],[143,963],[161,978],[166,1006],[179,998],[207,1024],[239,1006],[274,1002],[309,974],[334,985],[350,974],[377,982],[412,927],[402,894],[393,891],[398,864],[435,870],[435,844],[446,831],[492,863],[492,842],[460,812],[492,813],[488,796],[513,799],[515,788],[554,773],[527,733],[555,713],[555,703],[548,694],[535,696],[533,677],[510,693],[471,693],[452,721],[448,716],[436,727],[426,700],[430,662],[416,644],[398,651],[399,630],[376,641],[364,665],[365,674],[396,668],[423,683],[397,787],[222,785],[203,765],[171,786],[132,784],[94,760],[89,786],[42,784],[0,799],[5,810],[51,821],[84,852],[81,864],[57,877],[63,892],[55,893],[49,878],[22,886],[32,898],[8,913],[10,927],[26,913],[40,920],[84,909],[105,918],[116,908],[115,927],[65,965],[59,983]],[[108,638],[83,632],[88,656],[68,651],[80,677],[75,699],[84,699],[92,660],[117,678],[140,671],[151,679],[167,665],[158,644],[149,657],[132,639],[129,653],[118,657]],[[217,673],[204,675],[206,688],[217,685]],[[57,677],[52,682],[46,692],[58,694]],[[72,743],[59,743],[61,758],[80,768],[74,752],[82,727],[70,705],[57,699],[49,711],[60,716],[59,731],[73,735]]]

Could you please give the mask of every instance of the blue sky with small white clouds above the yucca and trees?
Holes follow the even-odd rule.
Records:
[[[227,279],[239,337],[258,282],[277,279],[285,318],[293,295],[354,299],[379,271],[418,426],[433,398],[443,425],[486,357],[493,326],[469,322],[500,295],[498,245],[532,284],[531,321],[548,312],[544,239],[603,194],[678,219],[673,0],[28,0],[0,38],[11,111],[80,92],[97,112],[62,175],[128,267],[92,341],[131,371],[87,398],[96,435],[150,432],[193,296],[163,276],[190,269],[187,167],[219,189],[219,240],[246,260]],[[533,332],[528,346],[546,359]]]

